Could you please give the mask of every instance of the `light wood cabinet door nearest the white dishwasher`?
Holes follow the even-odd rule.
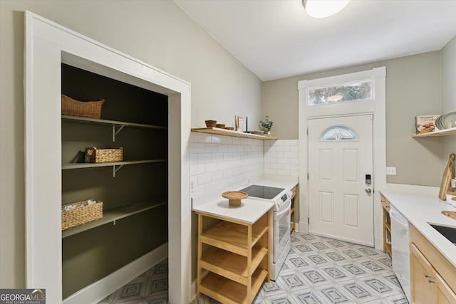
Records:
[[[410,253],[412,303],[435,303],[435,284],[429,282],[429,280],[435,281],[435,272],[425,256],[413,243],[410,244]]]

